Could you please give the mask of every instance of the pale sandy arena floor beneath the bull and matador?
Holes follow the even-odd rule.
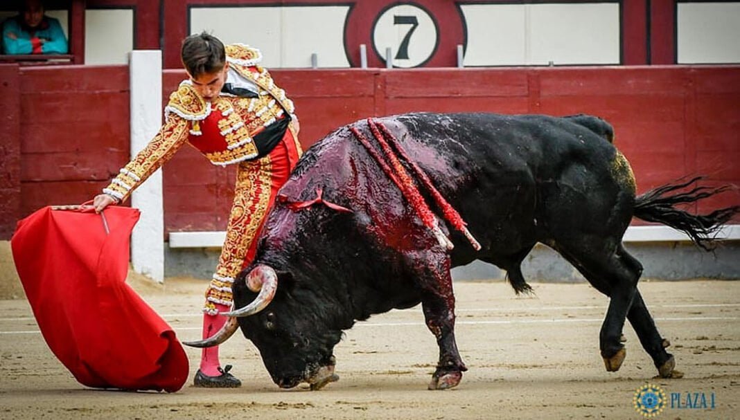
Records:
[[[205,282],[170,279],[164,287],[129,283],[181,339],[198,338]],[[638,387],[665,390],[662,419],[739,418],[740,282],[642,282],[662,334],[673,343],[684,379],[656,370],[631,330],[628,356],[607,373],[598,336],[607,299],[586,284],[534,284],[517,298],[500,282],[460,282],[457,342],[468,372],[453,390],[428,391],[437,346],[420,308],[355,325],[337,345],[340,381],[312,392],[273,385],[255,348],[240,334],[223,345],[223,363],[240,389],[190,386],[198,350],[187,348],[191,377],[177,393],[94,390],[47,348],[24,299],[0,300],[0,419],[639,419]],[[701,393],[715,408],[670,407],[671,393]]]

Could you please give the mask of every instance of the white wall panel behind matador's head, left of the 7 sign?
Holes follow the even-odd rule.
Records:
[[[265,67],[349,67],[344,22],[349,6],[193,7],[190,33],[206,30],[226,44],[257,47]]]

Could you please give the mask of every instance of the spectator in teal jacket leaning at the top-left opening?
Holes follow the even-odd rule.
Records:
[[[59,21],[44,16],[44,4],[27,0],[19,15],[2,24],[5,54],[67,54],[67,38]]]

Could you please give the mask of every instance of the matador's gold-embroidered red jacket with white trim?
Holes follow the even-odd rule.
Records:
[[[113,178],[103,192],[126,200],[131,192],[164,164],[180,147],[189,142],[212,163],[226,166],[255,158],[257,147],[252,138],[265,126],[293,114],[293,102],[260,67],[259,50],[243,44],[226,45],[229,68],[257,85],[257,98],[221,95],[203,101],[189,80],[182,81],[164,108],[165,123],[147,147],[139,152]]]

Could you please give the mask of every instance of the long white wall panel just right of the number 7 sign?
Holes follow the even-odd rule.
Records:
[[[463,4],[466,66],[619,64],[619,4]]]

